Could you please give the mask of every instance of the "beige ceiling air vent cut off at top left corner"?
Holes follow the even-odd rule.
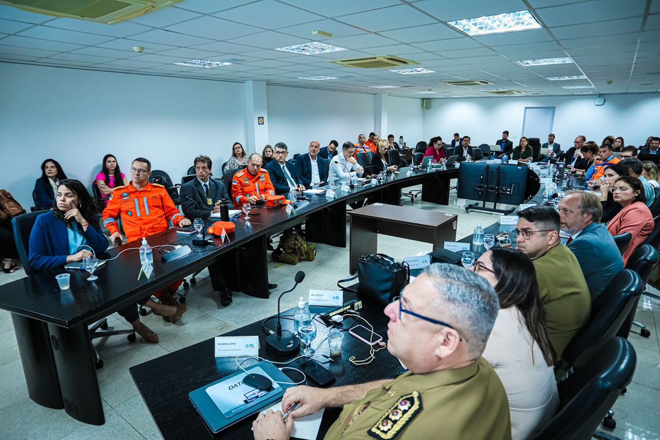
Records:
[[[167,6],[181,3],[182,0],[0,0],[0,4],[14,6],[28,12],[95,21],[113,25],[122,21],[141,17]]]

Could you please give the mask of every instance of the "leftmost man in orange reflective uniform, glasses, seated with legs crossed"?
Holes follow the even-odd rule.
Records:
[[[151,162],[144,157],[137,157],[131,164],[131,181],[128,186],[119,186],[113,190],[108,206],[103,210],[103,225],[112,234],[110,241],[124,241],[117,225],[120,217],[127,241],[166,231],[170,227],[168,221],[176,226],[190,225],[190,220],[179,212],[164,186],[149,183],[149,176]],[[170,322],[177,322],[186,311],[186,305],[179,305],[174,297],[181,283],[177,281],[154,294],[161,303],[177,307],[177,314],[164,317]]]

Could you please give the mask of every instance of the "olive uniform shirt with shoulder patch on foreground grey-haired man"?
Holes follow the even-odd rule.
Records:
[[[459,369],[412,374],[344,406],[325,436],[335,439],[510,440],[507,395],[483,359]]]

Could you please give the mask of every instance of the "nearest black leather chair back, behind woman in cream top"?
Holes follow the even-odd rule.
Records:
[[[623,338],[606,340],[584,366],[560,384],[560,409],[535,440],[587,440],[630,384],[637,355]]]

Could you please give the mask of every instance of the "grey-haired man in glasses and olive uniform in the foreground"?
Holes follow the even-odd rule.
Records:
[[[289,388],[283,421],[268,410],[252,423],[255,439],[289,439],[294,419],[344,406],[325,439],[511,439],[509,404],[500,380],[481,358],[498,314],[485,278],[434,264],[385,308],[388,351],[408,371],[394,380],[336,388]],[[446,417],[443,417],[446,415]]]

